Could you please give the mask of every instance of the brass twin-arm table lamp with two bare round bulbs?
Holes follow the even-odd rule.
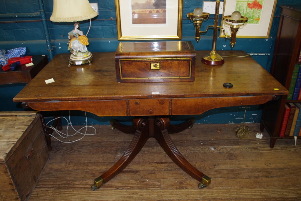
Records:
[[[187,13],[187,17],[190,18],[190,20],[192,20],[194,23],[195,39],[197,42],[200,40],[200,33],[206,33],[209,27],[213,27],[212,51],[209,54],[206,54],[205,56],[203,56],[202,62],[204,64],[221,65],[221,64],[225,63],[224,58],[222,58],[222,56],[220,56],[218,53],[216,53],[217,28],[222,29],[224,32],[224,35],[226,37],[228,36],[225,34],[224,28],[218,26],[219,3],[220,3],[220,1],[216,0],[214,25],[208,26],[205,31],[201,31],[200,29],[201,29],[203,20],[206,20],[209,18],[209,13],[203,13],[201,8],[194,9],[193,13]],[[241,16],[240,12],[234,11],[232,13],[232,15],[224,16],[223,20],[225,21],[225,23],[230,25],[231,36],[228,36],[228,37],[231,38],[230,46],[232,48],[235,44],[237,30],[239,29],[239,27],[241,25],[243,25],[245,22],[248,21],[248,18]]]

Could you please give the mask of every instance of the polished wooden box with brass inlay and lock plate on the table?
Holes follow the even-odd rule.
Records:
[[[195,54],[190,41],[120,42],[117,82],[193,82]]]

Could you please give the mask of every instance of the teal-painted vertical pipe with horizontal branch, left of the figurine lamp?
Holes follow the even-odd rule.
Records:
[[[42,20],[42,25],[44,28],[47,51],[49,52],[50,60],[53,58],[53,49],[51,46],[51,39],[47,25],[46,12],[44,8],[43,0],[38,0],[39,2],[39,11],[35,13],[8,13],[8,14],[0,14],[0,19],[8,19],[8,18],[31,18],[31,17],[39,17]]]

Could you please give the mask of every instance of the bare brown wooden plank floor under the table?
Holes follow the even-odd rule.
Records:
[[[156,140],[149,139],[128,167],[91,191],[93,180],[120,159],[133,135],[95,125],[96,136],[74,143],[52,138],[49,162],[29,201],[301,200],[301,142],[294,146],[292,139],[277,140],[270,149],[266,131],[262,139],[250,133],[249,139],[241,140],[234,126],[195,124],[191,130],[171,134],[184,157],[212,179],[204,189],[198,189],[199,182],[178,168]],[[259,132],[259,124],[247,126]],[[68,141],[80,137],[77,134]]]

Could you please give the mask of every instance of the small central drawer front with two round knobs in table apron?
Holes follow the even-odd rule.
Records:
[[[168,115],[169,99],[131,99],[131,116]]]

